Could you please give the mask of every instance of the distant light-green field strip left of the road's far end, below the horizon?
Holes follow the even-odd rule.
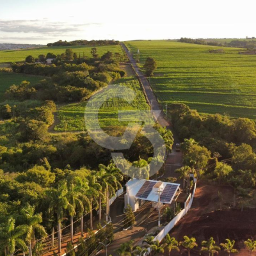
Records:
[[[72,48],[74,52],[77,54],[83,53],[86,56],[92,56],[90,53],[92,46],[56,46],[56,47],[43,47],[43,48],[35,48],[35,49],[26,49],[19,51],[0,51],[0,63],[9,63],[15,61],[24,61],[25,58],[29,55],[32,55],[34,58],[38,58],[40,54],[47,54],[48,52],[52,52],[54,54],[61,54],[65,52],[67,48]],[[105,52],[122,52],[120,45],[107,45],[107,46],[96,46],[99,56],[102,56]]]

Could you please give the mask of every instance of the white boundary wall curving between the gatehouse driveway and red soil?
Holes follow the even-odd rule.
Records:
[[[154,238],[154,241],[158,240],[159,242],[161,242],[163,240],[163,238],[172,230],[172,228],[175,226],[175,224],[178,221],[180,221],[180,219],[182,217],[184,217],[186,215],[186,213],[188,212],[188,210],[190,209],[190,207],[193,203],[195,191],[196,191],[196,180],[195,180],[195,188],[193,189],[193,192],[191,193],[191,200],[189,201],[189,204],[186,205],[185,209],[182,209],[182,211],[180,211],[179,214],[177,214],[177,216],[175,216],[175,218],[173,218],[172,221],[170,221],[164,227],[164,229],[161,230],[161,232],[159,232],[159,234],[157,234],[157,236]]]

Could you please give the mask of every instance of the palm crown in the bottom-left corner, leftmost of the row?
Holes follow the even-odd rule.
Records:
[[[4,248],[4,255],[13,256],[15,248],[19,248],[22,252],[28,251],[25,241],[20,238],[27,231],[26,225],[15,227],[15,220],[12,217],[0,225],[0,248]]]

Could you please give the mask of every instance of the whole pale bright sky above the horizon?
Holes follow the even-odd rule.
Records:
[[[256,37],[255,1],[0,0],[0,43]]]

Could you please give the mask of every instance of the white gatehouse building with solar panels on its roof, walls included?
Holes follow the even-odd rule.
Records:
[[[137,211],[144,201],[151,201],[153,207],[157,207],[159,202],[160,206],[172,204],[173,198],[179,195],[179,187],[177,183],[131,179],[126,184],[125,208],[131,205],[132,211]]]

